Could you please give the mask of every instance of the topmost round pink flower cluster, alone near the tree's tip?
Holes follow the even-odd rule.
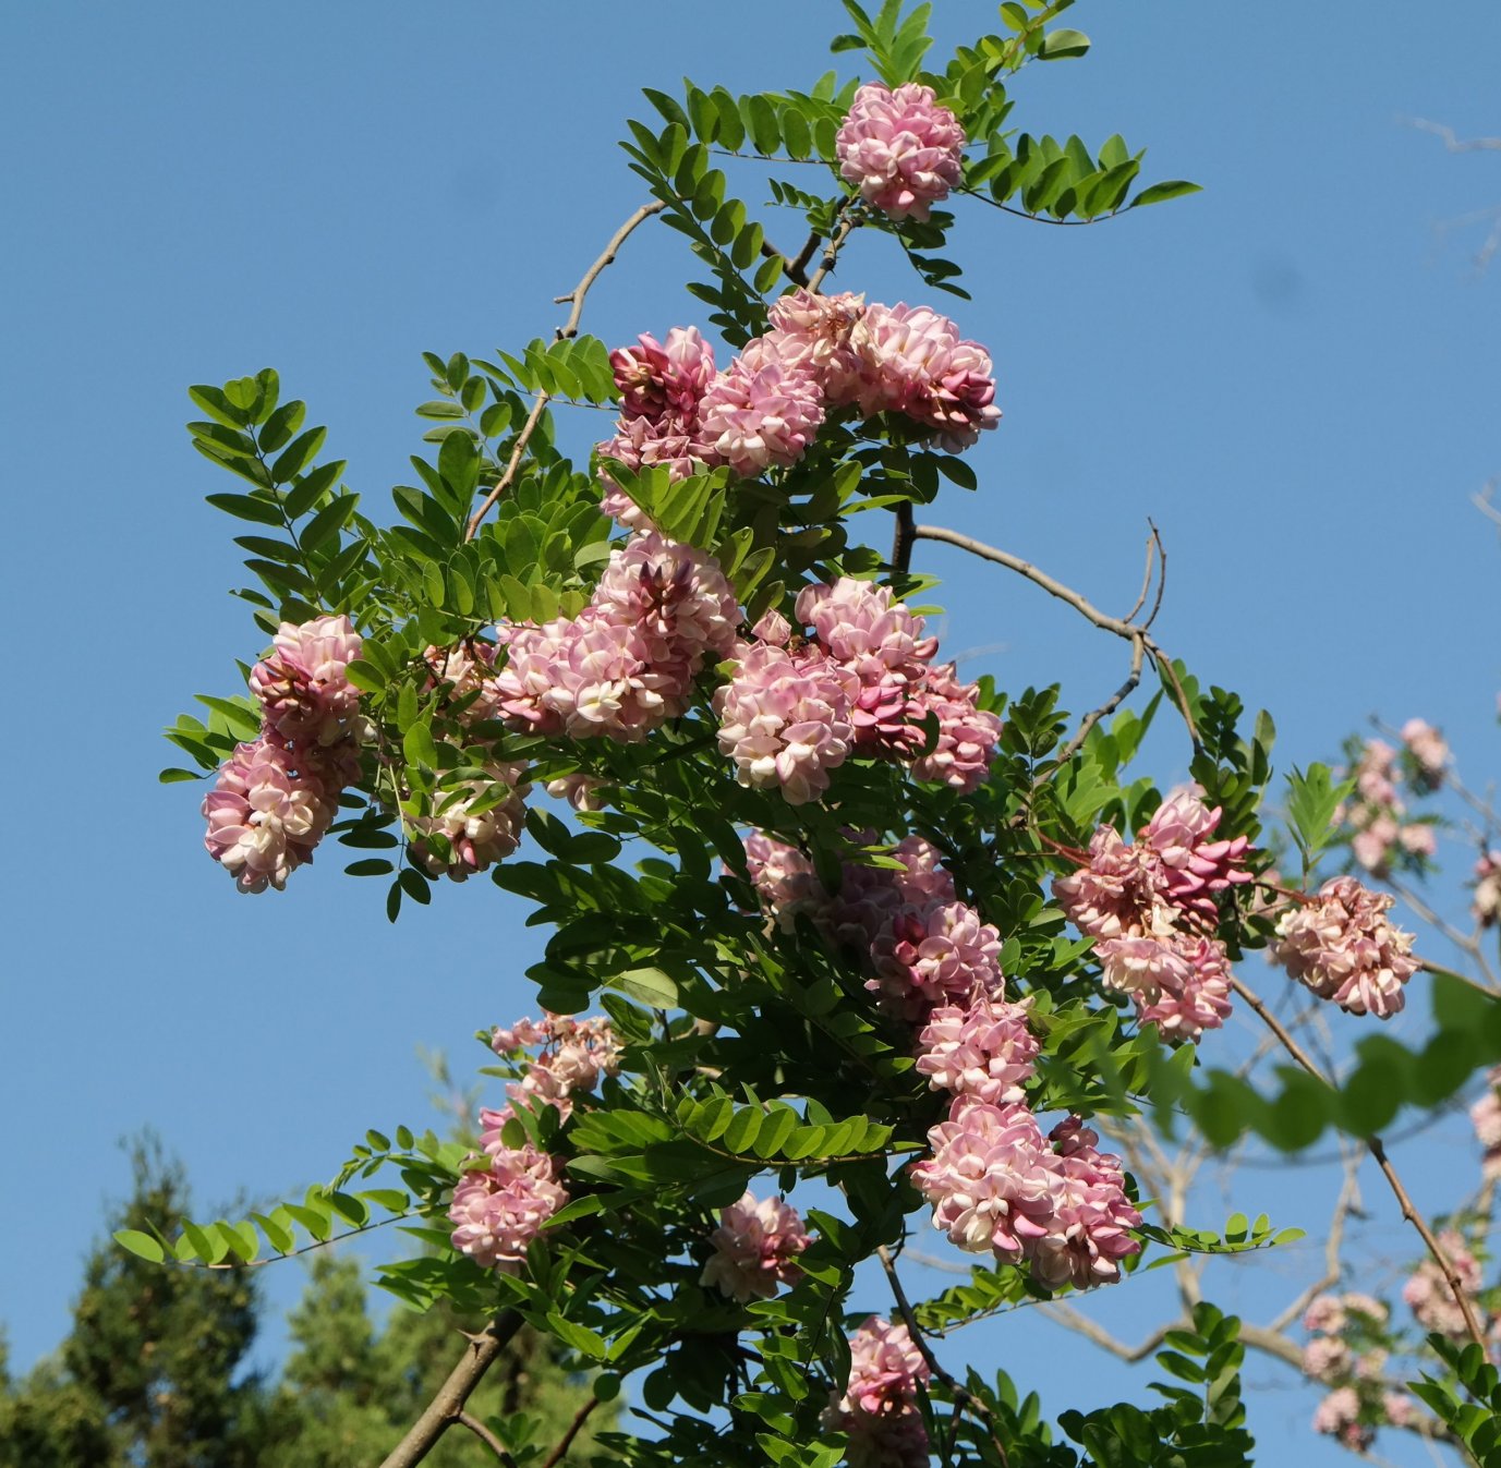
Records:
[[[926,219],[964,177],[964,128],[932,87],[866,83],[835,137],[839,173],[893,219]]]

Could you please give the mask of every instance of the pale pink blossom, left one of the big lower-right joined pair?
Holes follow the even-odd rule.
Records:
[[[932,1156],[913,1166],[911,1178],[952,1243],[1019,1264],[1048,1235],[1058,1159],[1024,1105],[959,1096],[928,1145]]]

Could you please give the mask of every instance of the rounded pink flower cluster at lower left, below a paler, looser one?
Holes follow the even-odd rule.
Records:
[[[483,1166],[467,1168],[453,1187],[449,1219],[453,1247],[486,1270],[519,1271],[527,1246],[567,1202],[557,1163],[531,1142],[507,1147],[501,1138],[509,1112],[483,1112]]]

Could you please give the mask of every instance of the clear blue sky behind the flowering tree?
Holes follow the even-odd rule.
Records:
[[[940,11],[947,39],[994,20]],[[1501,203],[1501,167],[1399,117],[1501,132],[1501,8],[1414,15],[1355,0],[1072,12],[1096,50],[1028,71],[1018,125],[1096,144],[1120,131],[1150,146],[1147,177],[1205,192],[1090,230],[961,210],[976,299],[952,309],[994,351],[1006,420],[974,453],[979,494],[950,491],[938,518],[1123,611],[1150,513],[1171,552],[1162,641],[1274,710],[1283,764],[1334,752],[1367,711],[1421,713],[1481,781],[1501,560],[1468,495],[1501,470],[1501,279],[1472,276],[1478,231],[1439,246],[1433,227]],[[203,495],[233,486],[188,446],[185,386],[275,365],[378,512],[420,449],[419,353],[548,333],[552,297],[639,201],[611,143],[644,116],[636,89],[808,86],[850,63],[823,53],[838,29],[832,0],[0,12],[15,638],[0,1316],[18,1364],[66,1328],[101,1204],[126,1183],[120,1136],[155,1126],[206,1207],[275,1198],[327,1175],[366,1126],[423,1124],[419,1042],[462,1064],[474,1028],[533,1007],[537,934],[488,883],[396,929],[380,884],[341,880],[336,860],[284,896],[239,898],[201,850],[201,790],[156,785],[174,763],[159,726],[194,692],[231,690],[233,659],[260,647],[224,594],[233,530]],[[752,165],[729,167],[766,198]],[[698,320],[675,285],[684,258],[666,231],[633,239],[585,330],[620,342]],[[880,239],[857,239],[839,279],[922,293]],[[569,431],[584,443],[600,425]],[[946,647],[973,651],[971,675],[1063,677],[1073,707],[1120,680],[1120,645],[1033,588],[938,548],[923,563],[952,578]],[[1472,1165],[1462,1129],[1412,1160],[1433,1204]],[[1255,1211],[1265,1177],[1241,1174],[1234,1201]],[[1300,1201],[1279,1222],[1316,1231]],[[1373,1237],[1409,1252],[1379,1232],[1387,1199],[1369,1202]],[[1304,1250],[1247,1298],[1315,1267]],[[1238,1297],[1243,1273],[1222,1267],[1211,1294]],[[296,1265],[269,1274],[285,1304]],[[1124,1333],[1153,1318],[1138,1285],[1096,1307]],[[1024,1381],[1036,1370],[1054,1411],[1121,1388],[1030,1313],[992,1352]],[[1268,1364],[1250,1376],[1288,1387]],[[1310,1405],[1283,1390],[1258,1406],[1265,1460],[1292,1441],[1298,1460],[1333,1460],[1300,1436]]]

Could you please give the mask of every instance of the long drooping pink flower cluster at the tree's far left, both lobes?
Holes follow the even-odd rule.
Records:
[[[221,766],[203,803],[204,847],[240,892],[285,887],[359,775],[359,689],[345,675],[359,654],[348,617],[315,617],[284,621],[272,654],[251,669],[261,732]]]

